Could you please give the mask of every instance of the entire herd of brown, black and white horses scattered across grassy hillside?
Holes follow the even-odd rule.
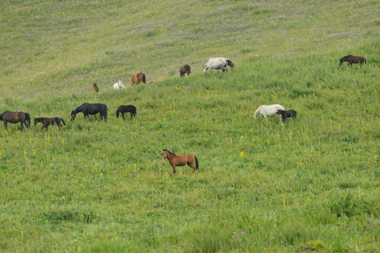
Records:
[[[360,66],[365,63],[367,64],[366,58],[362,56],[344,56],[339,60],[339,66],[341,66],[344,62],[348,62],[348,65],[352,65],[353,63],[359,63]],[[208,62],[205,66],[203,66],[203,72],[206,72],[206,70],[210,70],[210,72],[213,72],[214,70],[222,70],[227,71],[227,66],[231,67],[231,70],[234,70],[234,63],[232,63],[231,60],[228,58],[209,58]],[[191,67],[189,65],[184,65],[180,67],[179,74],[180,77],[184,77],[185,74],[191,73]],[[146,84],[146,77],[143,73],[138,73],[134,75],[131,79],[131,85],[134,84],[140,84],[140,83]],[[96,82],[93,83],[94,91],[99,92],[99,87],[97,86]],[[125,88],[125,86],[122,84],[121,80],[118,81],[118,83],[113,85],[113,89],[122,89]],[[107,122],[107,105],[104,105],[102,103],[83,103],[82,105],[75,108],[75,110],[71,111],[71,120],[73,121],[77,115],[78,112],[82,112],[84,119],[88,118],[89,115],[96,115],[100,113],[101,120],[104,119],[105,122]],[[125,113],[130,113],[131,119],[136,116],[137,114],[137,108],[134,105],[120,105],[118,107],[118,110],[116,110],[116,117],[118,118],[119,115],[122,115],[122,118],[125,119]],[[279,115],[280,122],[286,122],[286,118],[293,117],[296,119],[297,112],[296,110],[285,110],[284,106],[282,105],[260,105],[260,107],[255,111],[253,118],[257,119],[258,115],[261,115],[262,117],[272,117],[274,115]],[[27,128],[30,128],[30,115],[27,112],[10,112],[5,111],[0,114],[0,120],[4,122],[4,129],[7,129],[8,122],[15,124],[20,122],[21,124],[21,131],[23,131],[23,125],[27,126]],[[65,125],[65,121],[60,117],[37,117],[34,118],[34,126],[37,126],[37,123],[42,123],[42,129],[48,130],[48,126],[53,126],[56,124],[58,126],[58,129],[61,129],[62,124]],[[62,124],[61,124],[62,123]],[[169,160],[170,166],[172,166],[172,171],[175,173],[175,167],[176,166],[184,166],[188,165],[193,169],[193,171],[196,171],[199,167],[198,165],[198,159],[194,155],[175,155],[175,153],[171,153],[170,151],[164,149],[163,150],[163,157],[167,160]],[[194,162],[196,163],[196,166],[194,167]]]

